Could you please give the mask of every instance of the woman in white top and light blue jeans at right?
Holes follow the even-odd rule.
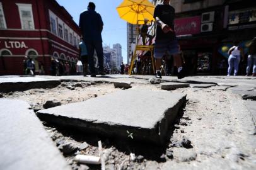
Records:
[[[244,60],[244,55],[243,55],[243,48],[241,48],[238,45],[238,41],[234,42],[234,46],[228,50],[228,76],[231,76],[231,72],[234,69],[234,76],[238,75],[238,68],[239,68],[239,63],[242,57],[242,60]]]

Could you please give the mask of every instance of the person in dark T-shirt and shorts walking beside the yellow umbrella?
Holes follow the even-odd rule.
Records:
[[[173,60],[178,68],[178,79],[185,77],[182,67],[182,58],[178,47],[178,40],[174,31],[175,9],[170,6],[170,0],[164,0],[154,9],[156,19],[156,40],[154,45],[154,58],[156,59],[156,77],[161,78],[161,59],[163,55],[173,55]]]

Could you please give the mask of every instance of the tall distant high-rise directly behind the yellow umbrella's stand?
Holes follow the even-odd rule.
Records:
[[[127,64],[132,54],[132,43],[136,43],[136,25],[127,23]]]

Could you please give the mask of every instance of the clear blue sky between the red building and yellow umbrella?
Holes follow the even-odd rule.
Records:
[[[81,11],[87,9],[88,3],[93,2],[96,5],[96,11],[102,16],[104,23],[102,31],[103,46],[114,43],[122,45],[122,56],[124,63],[127,63],[127,31],[126,22],[119,18],[117,6],[123,0],[56,0],[61,6],[73,16],[73,20],[78,24]]]

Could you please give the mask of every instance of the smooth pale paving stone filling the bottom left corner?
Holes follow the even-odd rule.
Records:
[[[71,169],[25,101],[0,99],[0,169]]]

